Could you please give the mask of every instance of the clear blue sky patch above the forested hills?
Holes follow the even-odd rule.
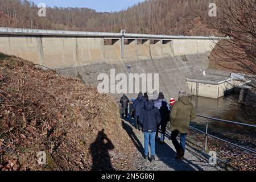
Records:
[[[144,0],[29,0],[36,4],[58,7],[88,7],[96,11],[119,11]]]

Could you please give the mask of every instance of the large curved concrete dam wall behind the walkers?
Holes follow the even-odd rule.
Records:
[[[159,91],[164,92],[168,100],[177,99],[179,90],[189,91],[186,78],[202,75],[214,47],[212,39],[206,37],[85,33],[53,31],[48,34],[0,28],[0,52],[58,69],[64,76],[80,75],[93,86],[101,82],[97,80],[98,75],[110,75],[110,69],[115,69],[116,74],[128,74],[127,66],[130,66],[131,73],[159,73]]]

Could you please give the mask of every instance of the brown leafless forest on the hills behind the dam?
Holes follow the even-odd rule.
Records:
[[[218,3],[219,0],[216,0]],[[47,7],[39,17],[35,3],[0,0],[0,26],[162,35],[217,35],[210,28],[209,0],[147,0],[127,10],[97,13],[87,8]]]

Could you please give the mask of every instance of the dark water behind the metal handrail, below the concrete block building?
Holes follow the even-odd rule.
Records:
[[[196,100],[195,96],[191,96],[190,99],[196,107],[197,114],[256,125],[256,111],[238,104],[237,94],[218,99],[198,97]],[[205,122],[206,119],[197,117],[191,125],[205,131]],[[255,150],[256,129],[254,127],[238,126],[209,119],[208,133]]]

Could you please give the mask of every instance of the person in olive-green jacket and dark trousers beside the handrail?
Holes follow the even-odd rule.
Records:
[[[179,101],[175,102],[171,112],[171,140],[177,152],[176,159],[184,158],[189,122],[195,118],[195,107],[189,101],[187,93],[180,91]],[[177,135],[180,136],[180,143],[177,141]]]

